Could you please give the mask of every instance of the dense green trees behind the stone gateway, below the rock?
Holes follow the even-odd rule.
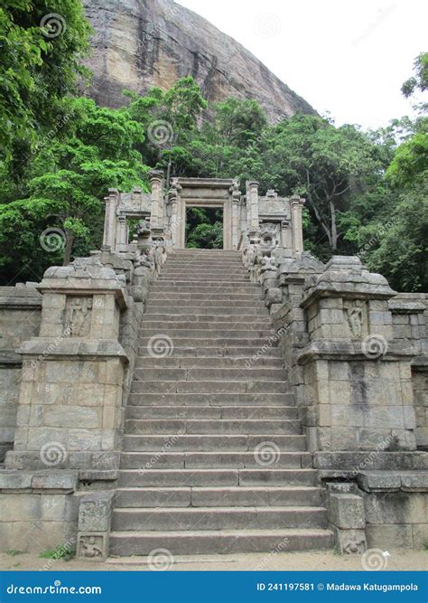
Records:
[[[41,23],[55,9],[64,21],[53,35]],[[126,92],[126,108],[98,107],[75,90],[88,32],[79,0],[13,0],[0,9],[3,284],[40,279],[51,264],[97,249],[107,189],[146,189],[157,167],[167,182],[237,177],[258,180],[261,193],[299,193],[314,255],[356,253],[393,287],[428,289],[426,104],[414,120],[368,133],[317,116],[269,125],[254,100],[208,106],[191,78],[143,97]],[[426,90],[427,65],[420,54],[403,86],[410,100]],[[191,246],[221,246],[221,217],[192,210],[187,235]]]

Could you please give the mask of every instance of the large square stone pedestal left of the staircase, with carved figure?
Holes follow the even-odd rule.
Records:
[[[87,478],[116,475],[127,363],[118,343],[124,286],[125,277],[97,259],[46,271],[38,287],[40,334],[19,350],[23,380],[6,467],[73,468]]]

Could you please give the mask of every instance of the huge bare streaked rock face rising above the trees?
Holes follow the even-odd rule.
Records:
[[[95,30],[91,96],[118,107],[122,90],[167,90],[192,75],[209,101],[256,99],[270,121],[314,113],[301,97],[228,35],[172,0],[83,0]]]

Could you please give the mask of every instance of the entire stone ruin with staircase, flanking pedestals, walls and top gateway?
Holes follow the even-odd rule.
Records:
[[[425,295],[303,251],[304,199],[168,184],[110,190],[101,250],[0,288],[2,549],[423,548]],[[186,249],[188,207],[223,250]]]

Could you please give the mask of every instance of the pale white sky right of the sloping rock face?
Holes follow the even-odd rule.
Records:
[[[422,0],[179,0],[337,125],[412,115],[401,85],[427,51]]]

